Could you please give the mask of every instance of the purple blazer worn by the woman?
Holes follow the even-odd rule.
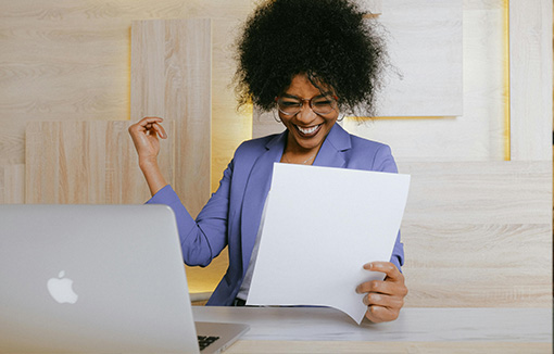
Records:
[[[166,204],[175,212],[187,265],[207,266],[228,246],[229,267],[207,305],[230,305],[239,292],[269,191],[273,165],[280,161],[286,142],[287,130],[240,144],[223,174],[219,188],[196,220],[171,186],[147,202]],[[398,172],[388,146],[350,135],[337,124],[325,139],[314,165]],[[400,232],[390,261],[399,269],[404,263]]]

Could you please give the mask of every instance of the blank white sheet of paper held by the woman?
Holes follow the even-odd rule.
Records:
[[[338,308],[357,324],[356,287],[383,279],[363,269],[389,261],[408,175],[276,163],[248,305]]]

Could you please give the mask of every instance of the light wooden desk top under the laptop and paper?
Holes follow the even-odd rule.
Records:
[[[249,324],[226,353],[552,353],[552,308],[404,308],[363,323],[332,308],[193,306],[196,320]]]

